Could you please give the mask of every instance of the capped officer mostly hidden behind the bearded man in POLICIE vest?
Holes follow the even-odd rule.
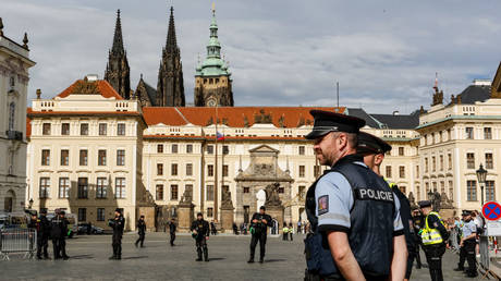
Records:
[[[381,138],[361,132],[358,134],[358,147],[357,154],[364,157],[364,163],[372,170],[379,176],[381,175],[381,163],[384,159],[384,154],[391,151],[391,145],[382,140]],[[388,182],[388,180],[387,180]],[[404,280],[411,279],[411,273],[413,271],[413,261],[416,256],[416,236],[413,228],[413,217],[411,215],[411,203],[407,199],[407,196],[403,194],[399,186],[394,183],[388,182],[393,193],[396,195],[400,201],[400,217],[402,219],[402,224],[404,225],[404,235],[405,243],[407,245],[407,269],[405,271]]]

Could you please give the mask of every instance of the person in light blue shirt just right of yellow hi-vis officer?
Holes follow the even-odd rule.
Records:
[[[464,224],[462,227],[462,237],[460,242],[460,264],[455,271],[464,271],[464,261],[468,261],[468,269],[466,270],[467,277],[474,278],[477,277],[477,264],[475,258],[475,247],[477,242],[475,241],[477,236],[477,225],[472,219],[472,212],[468,210],[463,210],[463,220]]]

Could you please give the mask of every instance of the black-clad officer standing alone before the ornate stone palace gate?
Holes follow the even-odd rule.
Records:
[[[259,242],[259,262],[265,262],[268,227],[271,227],[271,217],[266,213],[266,207],[261,206],[259,212],[255,212],[250,219],[250,257],[247,262],[254,262],[257,242]]]

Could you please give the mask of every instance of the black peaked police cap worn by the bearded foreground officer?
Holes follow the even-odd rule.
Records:
[[[330,132],[345,132],[357,134],[359,129],[365,125],[365,121],[359,118],[334,113],[323,110],[309,111],[315,119],[313,131],[306,135],[307,139],[315,139]]]

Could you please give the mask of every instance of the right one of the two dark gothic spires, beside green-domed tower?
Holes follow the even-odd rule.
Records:
[[[158,71],[157,107],[184,107],[183,64],[181,52],[175,39],[174,9],[171,7],[169,30],[162,61]]]

